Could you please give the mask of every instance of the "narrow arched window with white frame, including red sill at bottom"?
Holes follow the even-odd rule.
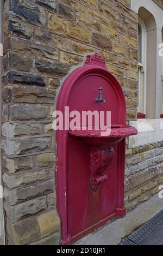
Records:
[[[138,118],[145,118],[146,114],[146,26],[143,20],[139,19],[138,24],[139,52],[138,52],[138,85],[139,103]]]

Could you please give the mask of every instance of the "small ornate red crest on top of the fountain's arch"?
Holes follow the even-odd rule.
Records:
[[[106,63],[104,59],[97,52],[92,55],[87,55],[84,65],[96,65],[106,69]]]

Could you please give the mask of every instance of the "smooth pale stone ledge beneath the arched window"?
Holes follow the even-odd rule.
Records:
[[[137,119],[130,121],[130,126],[134,126],[138,134],[129,137],[129,148],[163,141],[163,118]]]

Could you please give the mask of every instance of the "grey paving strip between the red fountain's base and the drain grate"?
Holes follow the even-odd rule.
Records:
[[[158,194],[137,206],[122,219],[117,219],[75,243],[75,245],[118,245],[123,237],[146,223],[163,209],[163,199]]]

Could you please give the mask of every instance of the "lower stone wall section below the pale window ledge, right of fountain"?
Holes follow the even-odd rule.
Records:
[[[163,142],[126,151],[127,211],[159,192],[163,184]]]

